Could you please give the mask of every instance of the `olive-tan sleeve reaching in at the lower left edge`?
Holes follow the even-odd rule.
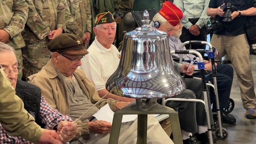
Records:
[[[22,100],[15,95],[10,81],[0,69],[0,123],[11,136],[21,136],[30,142],[38,142],[43,129],[24,109]]]

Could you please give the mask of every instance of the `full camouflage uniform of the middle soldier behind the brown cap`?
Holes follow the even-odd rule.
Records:
[[[23,48],[23,78],[39,72],[50,59],[47,48],[47,35],[57,28],[66,30],[66,0],[27,0],[29,13],[22,36],[26,47]]]

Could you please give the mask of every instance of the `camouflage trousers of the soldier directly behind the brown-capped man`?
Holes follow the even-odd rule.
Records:
[[[48,42],[48,40],[25,41],[26,46],[22,50],[24,67],[22,77],[24,79],[38,73],[50,60],[50,51],[47,48]]]

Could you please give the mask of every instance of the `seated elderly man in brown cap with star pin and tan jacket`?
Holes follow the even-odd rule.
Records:
[[[52,52],[52,58],[40,72],[29,76],[27,80],[41,88],[52,108],[74,120],[82,116],[77,121],[80,132],[70,144],[107,144],[111,124],[104,120],[93,120],[93,114],[105,104],[109,104],[115,111],[130,102],[119,102],[112,98],[100,100],[94,84],[86,78],[82,70],[77,69],[82,64],[81,58],[88,54],[79,36],[60,34],[49,43],[48,48]],[[100,102],[93,106],[99,100]],[[86,113],[89,108],[91,109]],[[148,142],[154,140],[161,143],[164,140],[168,144],[172,143],[153,116],[148,118],[148,131]],[[158,140],[160,136],[161,140]],[[137,120],[123,123],[119,143],[136,143],[136,140]]]

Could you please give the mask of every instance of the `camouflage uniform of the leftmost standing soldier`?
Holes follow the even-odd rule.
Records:
[[[20,66],[22,63],[21,48],[25,42],[21,36],[28,18],[28,4],[25,0],[1,0],[0,2],[0,30],[5,30],[10,35],[10,41],[6,44],[12,46],[16,52],[16,58]],[[21,78],[22,74],[19,75]]]

